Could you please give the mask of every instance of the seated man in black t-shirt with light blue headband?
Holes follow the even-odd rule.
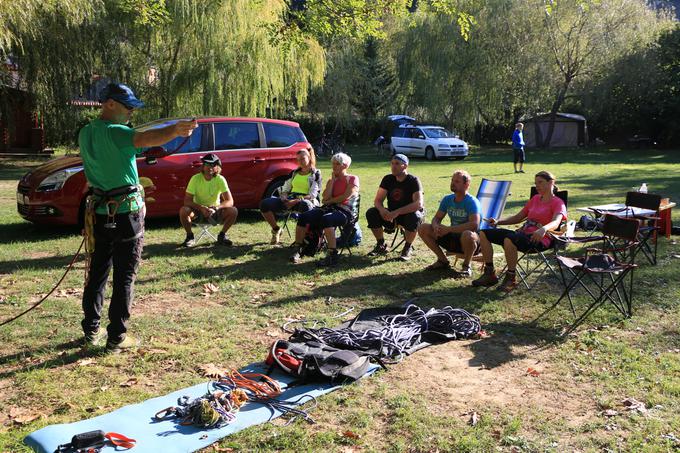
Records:
[[[368,227],[377,240],[368,256],[387,254],[384,232],[394,231],[397,225],[404,228],[404,249],[400,259],[411,259],[411,244],[423,221],[423,186],[420,180],[408,173],[408,157],[403,154],[392,156],[392,173],[380,182],[375,194],[374,206],[366,211]],[[384,206],[387,198],[387,208]]]

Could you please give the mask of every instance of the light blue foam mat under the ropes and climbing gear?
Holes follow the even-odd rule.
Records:
[[[374,373],[379,367],[372,366],[366,376]],[[266,373],[262,363],[249,365],[240,370],[245,373]],[[274,371],[271,377],[285,388],[295,378],[290,375]],[[294,386],[284,392],[277,399],[295,401],[302,395],[318,397],[341,387],[336,384],[315,383]],[[205,448],[235,432],[250,426],[259,425],[273,420],[281,412],[270,409],[259,403],[247,403],[236,414],[236,420],[219,429],[199,429],[194,426],[182,426],[178,420],[153,420],[153,415],[169,406],[177,405],[177,398],[188,395],[191,398],[203,396],[207,391],[206,383],[178,390],[165,396],[152,398],[142,403],[121,407],[108,414],[99,415],[89,420],[74,423],[46,426],[24,439],[24,443],[38,453],[53,453],[59,445],[66,444],[78,433],[100,429],[104,432],[117,432],[137,440],[134,452],[192,452]],[[102,452],[116,450],[108,445]]]

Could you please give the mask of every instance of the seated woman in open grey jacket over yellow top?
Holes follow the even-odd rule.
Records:
[[[316,168],[316,157],[313,149],[303,149],[297,153],[299,167],[293,170],[281,188],[279,196],[265,198],[260,203],[262,217],[272,227],[270,244],[281,243],[283,231],[276,223],[276,212],[307,212],[319,206],[321,191],[321,172]]]

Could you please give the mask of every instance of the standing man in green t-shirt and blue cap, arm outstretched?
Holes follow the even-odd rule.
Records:
[[[121,352],[138,344],[127,335],[146,212],[137,174],[137,154],[141,148],[163,145],[175,137],[188,137],[198,125],[191,120],[145,132],[129,128],[126,124],[132,112],[144,103],[123,84],[107,85],[100,101],[100,117],[83,127],[78,135],[85,177],[92,192],[88,202],[90,213],[86,215],[90,215],[90,219],[93,216],[94,220],[91,231],[94,251],[83,291],[85,317],[81,325],[86,346],[103,340],[99,324],[104,290],[113,267],[106,349]]]

